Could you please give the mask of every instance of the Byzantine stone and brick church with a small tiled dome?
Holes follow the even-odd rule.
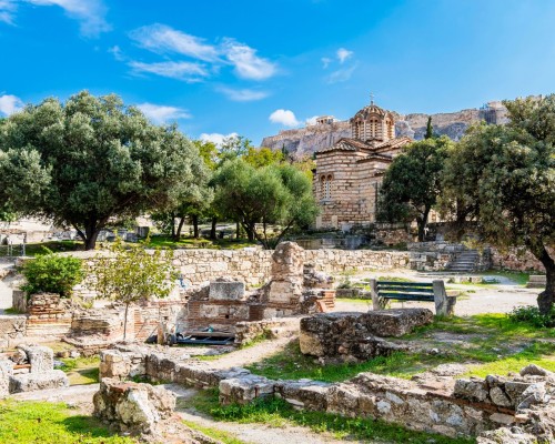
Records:
[[[320,205],[316,228],[346,229],[375,222],[377,192],[393,158],[412,142],[395,137],[392,112],[371,104],[351,120],[351,138],[316,151],[314,195]]]

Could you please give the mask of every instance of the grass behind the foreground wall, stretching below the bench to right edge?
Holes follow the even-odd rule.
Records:
[[[448,341],[443,336],[450,334]],[[502,374],[519,371],[526,359],[546,363],[555,359],[555,329],[536,329],[526,323],[514,323],[504,314],[483,314],[470,317],[435,319],[402,341],[421,345],[424,350],[438,349],[440,354],[396,352],[391,356],[374,357],[357,364],[322,365],[313,356],[301,353],[293,341],[284,350],[248,369],[272,380],[311,379],[324,382],[345,381],[362,372],[410,379],[443,363],[475,363],[475,371],[492,373],[495,364]],[[488,366],[490,365],[490,366]],[[508,369],[508,370],[506,370]]]

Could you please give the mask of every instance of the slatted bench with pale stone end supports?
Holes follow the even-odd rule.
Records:
[[[433,282],[395,282],[370,281],[372,305],[374,310],[384,310],[389,301],[434,302],[435,314],[452,315],[456,296],[447,296],[443,281]]]

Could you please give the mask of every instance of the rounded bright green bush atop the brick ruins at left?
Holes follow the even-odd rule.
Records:
[[[61,256],[48,250],[47,254],[23,265],[23,275],[27,278],[27,284],[22,289],[28,296],[47,292],[70,297],[73,285],[83,279],[83,271],[79,259]]]

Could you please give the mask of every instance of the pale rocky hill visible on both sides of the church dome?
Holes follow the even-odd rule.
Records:
[[[506,122],[506,109],[501,102],[490,102],[481,109],[474,108],[431,115],[434,132],[441,135],[445,134],[453,140],[460,140],[468,125],[481,120],[495,124]],[[396,135],[407,135],[415,140],[423,139],[428,117],[430,114],[421,113],[396,114]],[[341,138],[349,137],[351,137],[351,128],[349,121],[345,120],[280,131],[276,135],[264,138],[261,145],[273,150],[285,148],[291,154],[302,157],[327,148]]]

